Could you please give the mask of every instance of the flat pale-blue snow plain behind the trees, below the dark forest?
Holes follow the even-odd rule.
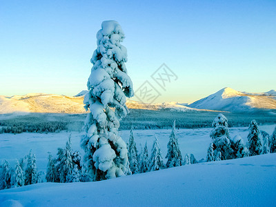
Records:
[[[269,135],[273,133],[276,124],[259,126],[259,130],[268,132]],[[179,142],[179,148],[181,154],[184,157],[186,153],[195,155],[197,160],[206,158],[207,149],[210,145],[210,131],[212,128],[196,128],[196,129],[179,129],[176,130],[176,136]],[[240,135],[244,139],[244,143],[247,141],[248,127],[229,128],[230,137],[233,139],[235,135]],[[146,141],[148,142],[148,150],[150,152],[152,143],[155,139],[155,135],[159,139],[159,146],[161,149],[164,161],[167,152],[167,144],[170,136],[171,129],[161,130],[133,130],[135,136],[135,142],[137,144],[137,150],[141,150],[141,146],[144,147]],[[71,134],[72,150],[79,150],[83,157],[83,150],[80,147],[81,136],[80,132],[59,132],[59,133],[21,133],[17,135],[13,134],[1,134],[0,135],[0,164],[4,159],[7,159],[11,166],[14,167],[15,159],[20,159],[28,155],[29,151],[37,157],[37,168],[39,171],[46,172],[48,163],[48,152],[53,157],[57,157],[57,148],[64,148],[66,141]],[[130,130],[119,131],[121,138],[128,142],[130,136]],[[12,152],[11,152],[12,151]]]

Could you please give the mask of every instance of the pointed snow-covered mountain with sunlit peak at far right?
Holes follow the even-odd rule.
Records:
[[[239,92],[232,88],[223,88],[213,95],[195,101],[190,108],[224,110],[230,112],[252,112],[255,110],[275,110],[276,92],[264,93]]]

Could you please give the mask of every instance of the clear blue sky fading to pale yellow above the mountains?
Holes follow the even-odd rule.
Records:
[[[276,1],[0,0],[0,95],[86,90],[101,22],[121,24],[128,74],[156,100],[193,102],[226,86],[276,90]],[[150,78],[162,63],[178,79]]]

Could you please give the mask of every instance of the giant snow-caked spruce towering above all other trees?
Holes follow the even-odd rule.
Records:
[[[92,180],[119,177],[128,168],[126,143],[118,136],[119,121],[126,117],[126,97],[134,95],[127,75],[127,52],[121,41],[124,32],[116,21],[103,21],[97,32],[97,49],[92,55],[88,94],[83,103],[90,109],[81,147]]]

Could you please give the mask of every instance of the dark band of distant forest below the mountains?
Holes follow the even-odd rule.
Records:
[[[176,128],[210,128],[219,112],[177,110],[130,109],[126,118],[121,120],[120,130],[168,129],[176,120]],[[259,125],[276,124],[276,116],[268,113],[235,114],[225,112],[229,127],[248,126],[252,119]],[[81,131],[86,114],[38,114],[10,117],[0,120],[0,133],[21,132],[60,132],[62,130]]]

